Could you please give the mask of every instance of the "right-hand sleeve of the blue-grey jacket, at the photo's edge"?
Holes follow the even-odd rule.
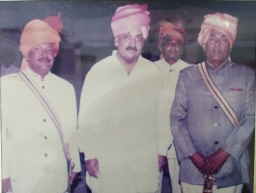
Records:
[[[245,105],[240,118],[240,124],[228,136],[225,144],[220,147],[239,161],[242,152],[247,147],[255,127],[255,75],[251,74],[245,89]]]

